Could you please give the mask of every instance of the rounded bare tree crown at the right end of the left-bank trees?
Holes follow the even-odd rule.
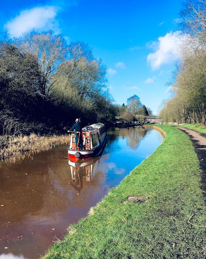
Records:
[[[106,87],[106,67],[100,59],[93,58],[87,44],[80,42],[70,46],[70,59],[62,63],[54,75],[53,90],[72,92],[80,100],[96,98]],[[60,84],[61,82],[61,84]]]

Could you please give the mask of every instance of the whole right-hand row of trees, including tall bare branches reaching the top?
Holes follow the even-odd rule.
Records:
[[[206,1],[187,0],[180,26],[185,38],[181,60],[170,87],[172,98],[160,115],[165,121],[206,124]]]

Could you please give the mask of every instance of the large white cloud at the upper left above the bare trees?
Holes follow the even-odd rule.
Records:
[[[32,30],[53,30],[59,33],[59,24],[55,19],[58,8],[54,6],[35,7],[20,12],[14,19],[5,24],[5,29],[14,37]]]

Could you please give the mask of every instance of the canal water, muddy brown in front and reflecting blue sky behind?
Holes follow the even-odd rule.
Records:
[[[0,167],[0,259],[35,259],[162,143],[150,128],[110,128],[101,156],[73,163],[67,145]]]

